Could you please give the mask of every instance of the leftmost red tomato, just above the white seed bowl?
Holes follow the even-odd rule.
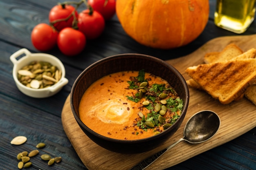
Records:
[[[31,41],[40,51],[53,49],[57,44],[58,32],[45,23],[38,24],[31,32]]]

